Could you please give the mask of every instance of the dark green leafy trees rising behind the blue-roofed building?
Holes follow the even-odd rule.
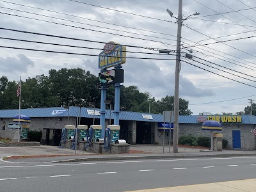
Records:
[[[49,76],[29,77],[21,83],[21,108],[48,108],[57,106],[88,107],[88,102],[95,102],[100,108],[100,89],[98,77],[81,68],[61,68],[49,70]],[[17,97],[18,83],[0,77],[0,109],[19,108]],[[106,99],[114,103],[115,88],[109,86]],[[137,86],[122,86],[120,108],[125,111],[142,113],[163,113],[173,110],[173,96],[156,100],[150,93],[142,93]],[[180,115],[191,115],[189,102],[179,99]],[[109,108],[109,106],[106,106]]]

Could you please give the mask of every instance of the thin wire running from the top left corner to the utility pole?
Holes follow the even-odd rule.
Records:
[[[71,15],[71,14],[63,13],[63,12],[56,12],[56,11],[47,10],[47,9],[44,9],[44,8],[38,8],[38,7],[35,7],[35,6],[28,6],[28,5],[24,5],[24,4],[12,3],[12,2],[9,2],[9,1],[3,1],[3,0],[0,0],[0,1],[2,1],[4,3],[16,4],[16,5],[19,5],[19,6],[24,6],[24,7],[28,7],[28,8],[37,9],[37,10],[43,10],[43,11],[47,11],[47,12],[58,13],[58,14],[61,14],[61,15],[68,15],[68,16],[71,16],[71,17],[79,18],[79,19],[92,20],[94,22],[100,22],[100,23],[109,24],[109,25],[113,25],[113,26],[119,26],[119,27],[122,27],[122,28],[136,29],[136,30],[140,30],[140,31],[147,31],[147,32],[150,32],[150,33],[157,33],[157,34],[160,34],[160,35],[175,36],[175,35],[170,35],[170,34],[166,34],[166,33],[150,31],[150,30],[147,30],[147,29],[132,28],[132,27],[128,27],[128,26],[122,26],[122,25],[118,25],[118,24],[113,24],[113,23],[110,23],[110,22],[104,22],[104,21],[95,20],[95,19],[88,19],[86,17],[81,17],[81,16],[77,16],[77,15]],[[172,21],[170,21],[170,22],[172,22]]]

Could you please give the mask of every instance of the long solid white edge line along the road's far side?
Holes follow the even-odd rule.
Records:
[[[38,166],[68,166],[68,165],[83,165],[83,164],[112,164],[112,163],[145,163],[145,162],[170,162],[170,161],[198,161],[198,160],[216,160],[216,159],[248,159],[256,157],[217,157],[205,159],[159,159],[159,160],[141,160],[141,161],[110,161],[110,162],[94,162],[94,163],[67,163],[67,164],[36,164],[36,165],[19,165],[19,166],[0,166],[0,168],[20,168],[20,167],[38,167]]]

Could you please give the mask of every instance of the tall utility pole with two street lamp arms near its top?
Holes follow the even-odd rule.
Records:
[[[166,12],[171,16],[173,13],[166,9]],[[200,13],[193,13],[192,15],[199,15]],[[175,85],[174,85],[174,121],[173,121],[173,153],[178,152],[178,142],[179,142],[179,81],[180,81],[180,42],[181,42],[181,27],[182,22],[188,19],[191,15],[182,19],[182,0],[179,0],[179,15],[174,17],[177,19],[178,29],[177,29],[177,47],[176,47],[176,65],[175,65]],[[159,50],[159,53],[169,54],[168,50]]]

